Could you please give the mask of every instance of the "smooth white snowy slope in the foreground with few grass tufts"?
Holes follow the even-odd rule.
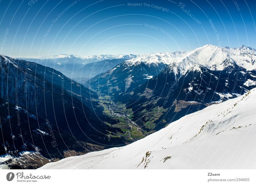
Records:
[[[139,141],[41,169],[255,169],[256,88],[186,115]]]

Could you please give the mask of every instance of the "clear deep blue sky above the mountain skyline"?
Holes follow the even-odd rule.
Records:
[[[12,57],[256,48],[255,0],[1,0],[0,7],[0,53]]]

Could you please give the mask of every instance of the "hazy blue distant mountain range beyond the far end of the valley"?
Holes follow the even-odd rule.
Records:
[[[93,55],[83,58],[78,55],[52,55],[36,58],[21,58],[29,62],[53,68],[79,83],[106,72],[117,64],[129,60],[137,55]]]

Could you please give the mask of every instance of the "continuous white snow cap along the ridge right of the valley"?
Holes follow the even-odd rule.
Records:
[[[145,54],[125,61],[128,65],[146,65],[164,63],[171,67],[175,75],[187,71],[201,71],[201,67],[210,70],[224,70],[236,64],[246,70],[256,69],[256,50],[241,46],[239,48],[218,47],[207,44],[189,52]],[[242,71],[243,74],[246,74]],[[215,77],[218,79],[218,77]]]

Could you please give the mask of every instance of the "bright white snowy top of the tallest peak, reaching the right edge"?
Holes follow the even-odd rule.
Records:
[[[238,65],[246,70],[255,70],[255,61],[256,50],[253,48],[221,48],[207,44],[172,60],[170,66],[174,73],[183,75],[188,70],[200,70],[201,67],[221,71]]]

